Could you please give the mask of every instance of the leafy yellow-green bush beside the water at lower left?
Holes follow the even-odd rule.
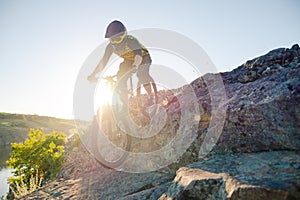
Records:
[[[21,185],[32,187],[30,180],[33,177],[43,177],[46,181],[53,178],[64,160],[64,133],[46,134],[39,129],[31,129],[28,136],[23,143],[11,144],[12,152],[7,164],[15,170],[14,176],[8,180],[13,191]]]

